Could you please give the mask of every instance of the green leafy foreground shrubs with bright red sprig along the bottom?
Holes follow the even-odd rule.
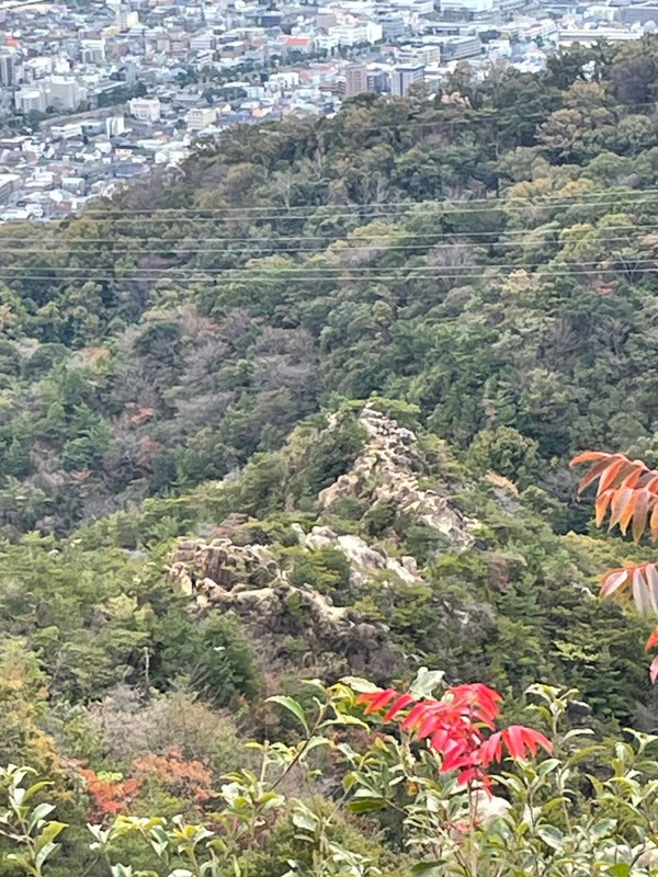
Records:
[[[308,728],[306,737],[292,747],[258,744],[263,759],[260,773],[237,770],[227,777],[217,791],[218,810],[208,825],[188,824],[181,817],[132,816],[118,816],[107,828],[91,825],[91,848],[99,856],[93,874],[649,877],[656,873],[658,779],[654,777],[658,776],[658,763],[650,753],[658,738],[633,733],[628,742],[616,741],[612,750],[592,744],[590,730],[568,727],[567,713],[576,692],[534,685],[527,692],[529,708],[549,729],[554,754],[534,758],[534,744],[545,748],[547,742],[538,731],[519,737],[511,728],[502,729],[501,745],[504,741],[512,759],[506,763],[507,770],[489,775],[490,788],[485,790],[474,782],[461,783],[461,768],[449,771],[446,755],[432,748],[431,737],[419,743],[418,731],[423,725],[431,724],[435,732],[439,726],[463,724],[469,736],[473,726],[483,725],[486,740],[481,751],[498,733],[487,736],[500,705],[491,690],[457,686],[442,698],[431,697],[427,690],[411,691],[412,699],[405,707],[398,706],[401,695],[392,690],[382,692],[361,680],[350,683],[325,690],[308,710],[313,715],[293,698],[276,701]],[[368,691],[359,694],[352,685]],[[384,718],[393,709],[390,720],[399,720],[395,733],[364,722],[360,718],[364,704],[372,711],[388,706]],[[504,736],[506,730],[511,733]],[[462,730],[454,732],[458,736]],[[310,745],[313,739],[324,744]],[[494,743],[490,747],[496,748]],[[328,752],[331,766],[325,760]],[[294,775],[290,770],[293,761]],[[582,782],[583,764],[595,765],[591,773],[586,772],[590,788]],[[282,773],[296,781],[290,797],[273,788]],[[56,846],[61,823],[44,822],[50,805],[31,813],[20,810],[25,805],[19,802],[22,796],[16,789],[30,793],[21,785],[24,768],[10,767],[3,775],[11,777],[4,789],[11,811],[4,834],[21,848],[10,861],[19,863],[30,877],[46,877],[42,865]],[[313,782],[308,785],[304,777],[332,784],[331,798],[319,801]],[[361,828],[361,839],[366,832],[378,834],[383,824],[397,820],[397,853],[389,848],[385,854],[390,867],[381,867],[383,862],[373,856],[372,847],[368,852],[354,844],[353,834],[337,830],[341,820],[347,824],[345,811],[351,813],[352,825]],[[33,821],[35,831],[25,830]],[[259,851],[276,843],[277,825],[283,824],[290,825],[292,847],[274,846],[279,856],[275,870],[261,868]],[[48,853],[36,865],[35,840],[44,831],[53,838],[41,847]]]

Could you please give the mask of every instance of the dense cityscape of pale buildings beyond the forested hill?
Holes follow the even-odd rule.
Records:
[[[657,5],[620,0],[4,3],[0,220],[75,213],[231,125],[432,94],[464,61],[536,71],[556,47],[656,21]]]

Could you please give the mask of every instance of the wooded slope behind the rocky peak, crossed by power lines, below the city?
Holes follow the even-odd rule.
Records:
[[[246,126],[3,226],[0,532],[188,491],[373,392],[582,531],[569,454],[656,458],[658,116],[621,84],[650,93],[656,46]]]

